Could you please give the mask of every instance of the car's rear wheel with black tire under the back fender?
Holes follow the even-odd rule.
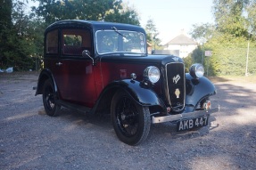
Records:
[[[48,116],[56,117],[61,109],[61,106],[56,104],[56,99],[54,97],[54,85],[50,79],[45,81],[43,87],[43,103],[45,107],[45,112]]]

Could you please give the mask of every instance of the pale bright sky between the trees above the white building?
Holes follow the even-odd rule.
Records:
[[[147,20],[153,22],[159,31],[161,44],[168,43],[184,29],[189,36],[194,24],[214,23],[213,0],[123,0],[139,14],[141,26]]]

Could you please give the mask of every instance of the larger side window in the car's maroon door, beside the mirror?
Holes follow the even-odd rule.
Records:
[[[62,30],[62,54],[82,55],[84,50],[91,52],[91,36],[86,29]]]

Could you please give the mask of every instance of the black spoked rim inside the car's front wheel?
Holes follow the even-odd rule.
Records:
[[[117,125],[122,134],[130,137],[138,131],[139,118],[135,104],[127,97],[123,97],[116,107]]]

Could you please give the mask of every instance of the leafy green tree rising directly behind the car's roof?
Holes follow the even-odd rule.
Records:
[[[106,20],[139,25],[136,11],[121,0],[34,0],[32,11],[47,25],[57,20]]]

